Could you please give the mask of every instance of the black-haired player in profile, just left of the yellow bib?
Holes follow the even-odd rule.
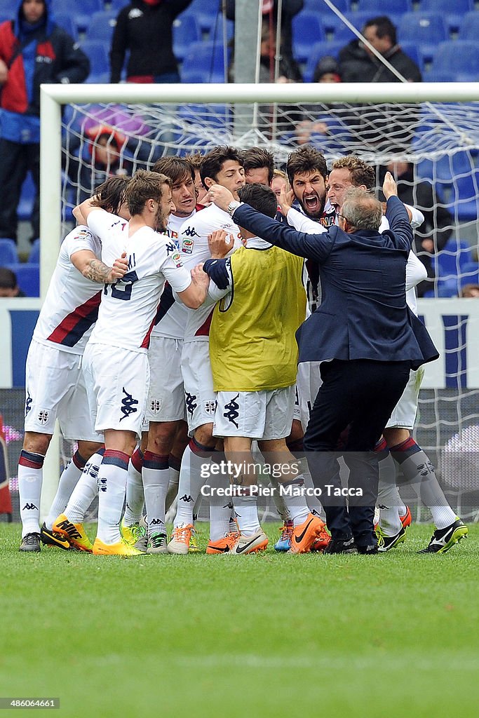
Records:
[[[238,197],[238,189],[245,183],[241,153],[229,146],[218,146],[208,152],[201,163],[200,173],[205,187],[218,183],[228,187],[233,197]],[[223,229],[228,236],[233,236],[235,247],[241,246],[239,228],[233,223],[230,215],[216,205],[210,205],[190,220],[186,220],[180,237],[182,261],[186,267],[193,267],[210,258],[208,236],[218,229]],[[217,443],[213,438],[216,395],[213,391],[208,352],[213,309],[213,299],[207,299],[200,309],[187,312],[181,368],[185,384],[188,428],[192,438],[183,454],[180,469],[177,513],[173,522],[172,538],[168,544],[168,551],[172,554],[188,552],[193,528],[192,509],[204,482],[200,475],[200,467],[213,456]],[[210,505],[212,546],[216,541],[222,541],[225,533],[230,530],[231,514],[226,508],[224,511],[222,508],[218,505]]]

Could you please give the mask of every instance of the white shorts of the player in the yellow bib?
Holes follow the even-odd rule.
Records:
[[[294,385],[273,391],[218,391],[215,437],[284,439],[291,433]]]

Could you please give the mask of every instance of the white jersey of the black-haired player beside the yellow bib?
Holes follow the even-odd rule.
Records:
[[[187,269],[192,269],[210,258],[208,235],[217,229],[223,229],[233,235],[235,239],[233,251],[241,247],[239,227],[227,212],[220,210],[216,205],[205,207],[183,223],[180,232],[181,258]],[[208,340],[214,307],[215,301],[206,297],[205,303],[199,309],[187,309],[185,342]]]

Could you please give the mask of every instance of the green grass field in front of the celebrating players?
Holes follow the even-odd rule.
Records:
[[[379,556],[124,560],[19,554],[0,523],[0,696],[68,718],[473,716],[479,526],[418,556],[431,531]]]

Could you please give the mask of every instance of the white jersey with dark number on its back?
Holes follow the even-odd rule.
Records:
[[[104,210],[88,215],[88,226],[101,238],[101,258],[111,266],[126,252],[128,271],[116,284],[106,284],[90,344],[106,344],[146,352],[165,279],[175,292],[191,284],[190,272],[168,238],[141,227],[129,236],[129,224]]]

